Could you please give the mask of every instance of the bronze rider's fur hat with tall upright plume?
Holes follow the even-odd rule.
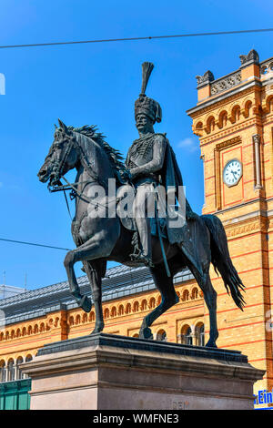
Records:
[[[154,68],[152,63],[145,62],[142,64],[142,86],[141,93],[135,102],[135,118],[139,114],[146,115],[153,123],[161,122],[162,110],[157,101],[146,96],[145,91],[149,76]]]

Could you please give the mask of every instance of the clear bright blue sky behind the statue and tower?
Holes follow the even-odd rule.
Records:
[[[270,2],[178,0],[2,0],[0,45],[230,31],[272,26]],[[220,77],[240,66],[238,56],[258,50],[273,56],[272,33],[151,41],[0,49],[0,238],[74,248],[61,194],[36,178],[52,143],[54,123],[96,124],[124,153],[137,138],[134,102],[141,63],[155,69],[147,95],[160,102],[167,132],[187,186],[201,213],[203,168],[186,110],[197,103],[195,76]],[[72,206],[73,209],[73,206]],[[66,251],[0,241],[0,283],[33,289],[66,280]],[[79,267],[76,273],[81,274]]]

